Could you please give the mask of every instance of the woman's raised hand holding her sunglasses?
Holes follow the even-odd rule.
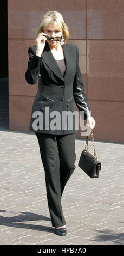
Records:
[[[37,38],[35,39],[36,42],[36,55],[41,57],[41,54],[43,52],[43,49],[45,47],[45,42],[47,41],[47,38],[45,38],[43,32],[39,33]]]

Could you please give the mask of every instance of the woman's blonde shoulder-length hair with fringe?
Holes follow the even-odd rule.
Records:
[[[47,28],[50,23],[53,23],[54,25],[62,28],[64,42],[66,42],[69,38],[68,26],[66,25],[62,15],[58,13],[58,11],[48,11],[43,15],[41,24],[37,28],[36,36],[38,36],[39,33],[43,32],[44,28]]]

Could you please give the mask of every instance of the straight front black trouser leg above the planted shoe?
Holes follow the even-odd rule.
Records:
[[[53,227],[60,227],[65,225],[66,221],[61,205],[60,159],[56,136],[37,132],[36,136],[45,171],[45,184],[51,223]]]

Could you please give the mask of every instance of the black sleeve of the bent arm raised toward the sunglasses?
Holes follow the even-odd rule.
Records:
[[[29,84],[36,84],[40,76],[42,57],[37,56],[35,52],[36,52],[35,46],[29,47],[28,69],[25,73],[25,79]]]

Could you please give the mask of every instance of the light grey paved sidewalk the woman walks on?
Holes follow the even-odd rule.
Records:
[[[58,236],[36,136],[6,129],[0,143],[0,245],[124,244],[124,145],[95,142],[102,168],[99,179],[90,179],[78,167],[85,143],[76,139],[76,169],[62,196],[67,235]]]

